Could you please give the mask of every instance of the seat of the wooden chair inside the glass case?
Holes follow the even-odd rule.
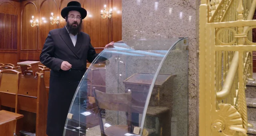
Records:
[[[110,126],[105,130],[106,136],[125,136],[124,134],[126,133],[128,133],[127,125]],[[143,130],[142,136],[148,136],[148,131],[146,129]]]

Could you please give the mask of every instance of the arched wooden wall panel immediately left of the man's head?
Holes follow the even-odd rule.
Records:
[[[46,37],[48,36],[49,31],[57,28],[56,24],[50,24],[51,13],[54,14],[54,17],[58,16],[56,1],[43,0],[39,8],[39,50],[42,50],[42,48],[44,47],[44,42]]]

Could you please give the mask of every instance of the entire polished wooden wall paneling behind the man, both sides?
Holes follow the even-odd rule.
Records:
[[[0,49],[0,52],[16,52],[18,55],[14,58],[17,58],[17,62],[18,60],[39,60],[41,49],[49,31],[62,28],[66,25],[66,21],[61,17],[60,11],[62,8],[66,7],[70,1],[71,0],[22,0],[21,2],[14,2],[1,0],[0,13],[16,14],[18,27],[16,50],[10,50],[13,48],[8,46],[8,49]],[[83,31],[90,35],[91,43],[93,47],[96,48],[97,53],[102,51],[109,42],[116,42],[122,39],[121,0],[76,1],[80,2],[82,7],[88,11],[87,17],[83,20]],[[100,10],[103,10],[104,4],[107,5],[107,10],[109,10],[109,8],[113,9],[113,17],[111,20],[108,18],[102,19],[100,17]],[[60,17],[59,26],[50,24],[52,12],[54,13],[54,17]],[[30,26],[31,16],[34,16],[35,20],[39,19],[38,29]],[[44,20],[42,17],[44,17]],[[0,22],[1,21],[2,19],[0,19]],[[0,23],[0,28],[1,27],[4,27],[3,23]],[[3,37],[3,35],[0,35],[0,38],[4,39],[1,36]],[[0,44],[3,43],[1,39]],[[14,64],[16,64],[16,62]]]

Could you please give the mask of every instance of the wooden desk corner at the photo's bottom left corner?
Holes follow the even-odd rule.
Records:
[[[23,115],[10,111],[0,111],[0,136],[13,136],[16,133],[16,122]]]

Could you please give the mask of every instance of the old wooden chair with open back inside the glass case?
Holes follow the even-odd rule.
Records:
[[[99,122],[101,136],[124,136],[126,133],[132,134],[132,109],[130,108],[130,91],[128,93],[104,93],[102,91],[94,90],[94,97],[96,105],[99,108]],[[111,111],[124,111],[128,113],[127,125],[109,126],[104,130],[101,110],[107,109]],[[146,129],[143,130],[143,136],[148,136]]]

